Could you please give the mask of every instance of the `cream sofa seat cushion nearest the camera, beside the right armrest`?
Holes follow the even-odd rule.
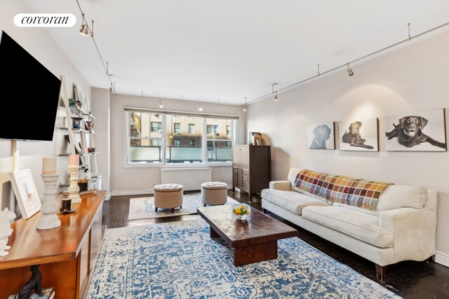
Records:
[[[379,217],[346,207],[304,207],[302,217],[377,247],[393,246],[393,233],[379,226]]]

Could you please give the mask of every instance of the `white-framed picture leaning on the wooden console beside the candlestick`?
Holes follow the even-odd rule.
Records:
[[[30,169],[10,172],[11,185],[17,199],[20,213],[27,219],[41,210],[41,200],[34,185]]]

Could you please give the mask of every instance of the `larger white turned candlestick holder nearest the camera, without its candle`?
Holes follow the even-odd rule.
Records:
[[[43,180],[43,204],[41,207],[42,218],[37,223],[38,230],[48,230],[56,228],[61,225],[61,221],[56,216],[58,211],[58,204],[56,203],[56,183],[58,182],[59,174],[41,174]]]

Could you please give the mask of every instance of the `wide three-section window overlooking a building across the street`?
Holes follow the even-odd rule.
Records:
[[[128,165],[232,162],[236,117],[125,111]]]

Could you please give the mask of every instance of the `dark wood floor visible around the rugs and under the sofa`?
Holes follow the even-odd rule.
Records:
[[[229,197],[239,202],[246,202],[255,209],[262,209],[260,198],[253,196],[248,202],[246,193],[233,193],[228,191]],[[107,228],[121,228],[125,226],[145,225],[149,223],[163,223],[172,221],[186,221],[199,218],[198,215],[185,215],[163,218],[148,218],[128,221],[129,199],[131,197],[147,197],[152,195],[114,196],[105,202],[103,207],[103,224]],[[449,298],[449,268],[431,261],[415,262],[404,261],[387,267],[387,278],[379,281],[376,278],[374,263],[361,258],[342,247],[337,246],[317,235],[270,214],[279,220],[288,223],[298,231],[298,237],[328,256],[352,267],[357,272],[385,286],[390,291],[401,295],[403,298]]]

